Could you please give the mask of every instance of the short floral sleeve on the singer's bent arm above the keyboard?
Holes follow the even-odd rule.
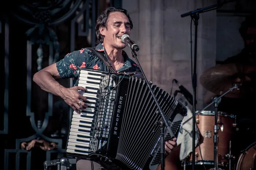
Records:
[[[61,78],[76,78],[79,74],[79,68],[86,67],[87,59],[88,50],[84,48],[65,55],[63,59],[56,63]]]

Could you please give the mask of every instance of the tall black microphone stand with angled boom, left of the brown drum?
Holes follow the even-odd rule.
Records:
[[[203,12],[207,12],[207,11],[211,11],[217,8],[222,7],[223,4],[232,2],[235,0],[230,0],[230,1],[224,1],[222,3],[218,3],[205,7],[205,8],[200,8],[200,9],[196,9],[195,11],[190,11],[187,13],[184,13],[181,15],[181,17],[186,17],[186,16],[191,16],[192,20],[194,21],[194,25],[195,25],[195,46],[194,46],[194,69],[193,69],[193,74],[192,74],[192,87],[193,87],[193,122],[192,122],[192,170],[195,170],[195,139],[196,139],[196,121],[195,121],[195,113],[196,113],[196,86],[197,86],[197,78],[196,78],[196,59],[197,59],[197,27],[198,27],[198,20],[199,20],[199,13],[203,13]],[[192,62],[192,61],[191,61]]]

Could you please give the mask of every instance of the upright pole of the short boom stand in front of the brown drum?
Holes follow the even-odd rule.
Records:
[[[221,102],[221,98],[214,98],[214,108],[215,108],[215,120],[214,120],[214,170],[218,170],[218,104]]]

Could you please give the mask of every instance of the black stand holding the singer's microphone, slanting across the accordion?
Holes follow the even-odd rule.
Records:
[[[137,54],[136,52],[130,48],[131,51],[132,51],[132,56],[133,58],[135,58],[137,64],[139,65],[140,67],[140,70],[142,72],[142,75],[147,83],[147,87],[148,89],[150,90],[150,93],[155,101],[155,103],[157,104],[157,107],[158,107],[158,110],[157,110],[157,113],[160,113],[161,117],[162,117],[162,121],[158,122],[157,124],[160,125],[160,128],[161,128],[161,143],[160,143],[160,154],[161,154],[161,170],[164,170],[165,169],[165,138],[164,138],[164,127],[166,127],[166,129],[168,130],[169,134],[170,134],[170,137],[173,138],[174,137],[174,134],[173,134],[173,131],[170,127],[170,124],[168,123],[166,117],[165,117],[165,114],[163,113],[162,111],[162,108],[160,106],[160,104],[158,103],[157,101],[157,98],[155,97],[155,94],[151,88],[151,84],[148,83],[148,80],[146,78],[146,75],[144,74],[144,71],[142,70],[142,67],[140,66],[140,63],[138,61],[138,58],[137,58]]]

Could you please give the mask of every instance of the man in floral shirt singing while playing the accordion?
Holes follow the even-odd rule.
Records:
[[[95,29],[98,45],[95,50],[109,60],[116,72],[140,72],[138,65],[123,51],[126,44],[121,41],[122,35],[130,34],[132,26],[129,13],[121,8],[108,8],[97,18]],[[72,109],[80,113],[88,105],[85,102],[86,97],[78,93],[78,90],[86,91],[85,88],[78,87],[79,68],[94,68],[110,72],[97,56],[83,48],[67,54],[64,59],[37,72],[33,80],[43,90],[63,98]],[[56,78],[73,78],[74,87],[65,88],[55,80]],[[166,141],[166,155],[171,153],[176,145],[176,138],[173,141]],[[120,169],[113,163],[85,159],[80,159],[76,163],[76,168],[77,170]]]

